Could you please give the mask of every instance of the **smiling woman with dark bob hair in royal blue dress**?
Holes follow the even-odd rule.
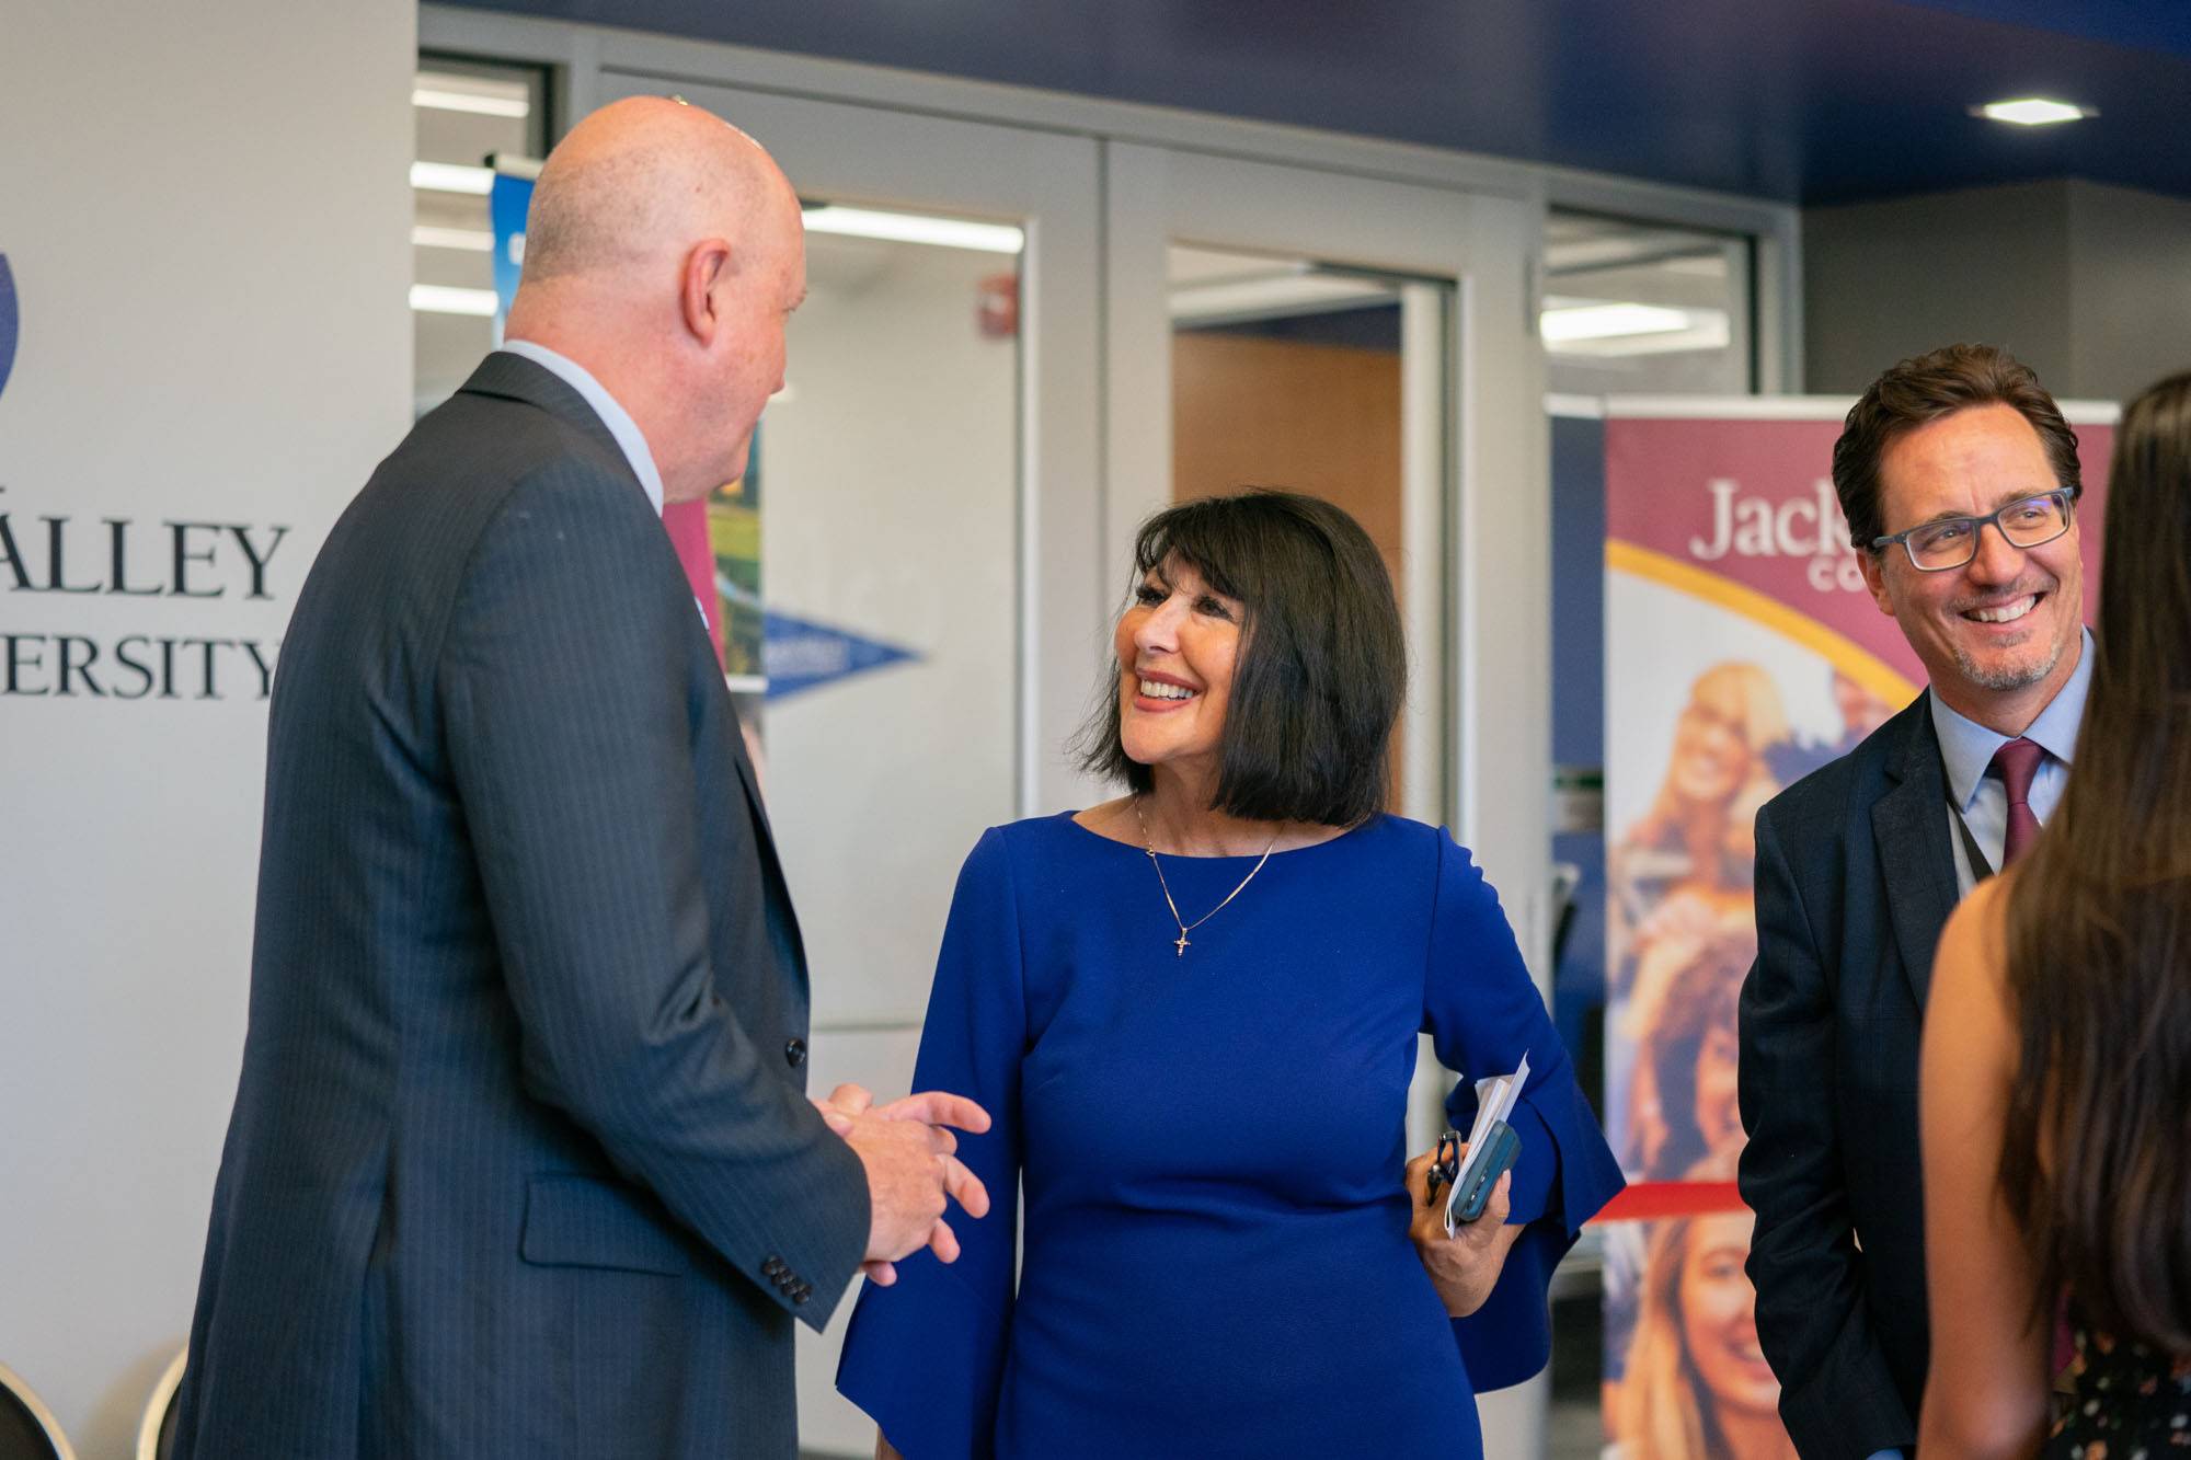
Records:
[[[1135,568],[1087,737],[1128,794],[984,833],[936,965],[916,1087],[993,1114],[995,1206],[870,1285],[837,1385],[907,1460],[1477,1456],[1619,1171],[1483,875],[1378,811],[1404,640],[1361,526],[1188,502]],[[1418,1030],[1461,1131],[1529,1059],[1455,1239],[1407,1166]]]

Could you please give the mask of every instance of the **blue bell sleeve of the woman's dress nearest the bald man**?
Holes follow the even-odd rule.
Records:
[[[1019,1232],[1019,1061],[1025,1048],[1019,903],[1001,829],[982,833],[944,925],[914,1090],[971,1096],[990,1114],[957,1155],[988,1188],[988,1217],[947,1221],[955,1263],[916,1252],[892,1287],[863,1285],[837,1364],[837,1390],[907,1460],[995,1453],[997,1392],[1012,1331]]]

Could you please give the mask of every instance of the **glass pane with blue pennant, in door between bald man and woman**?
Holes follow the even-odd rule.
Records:
[[[819,1033],[918,1024],[957,866],[1019,811],[1019,239],[808,202],[784,390],[747,498],[714,506],[719,568],[736,520],[760,544],[769,811]]]

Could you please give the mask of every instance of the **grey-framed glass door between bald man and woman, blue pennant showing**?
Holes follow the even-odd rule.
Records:
[[[758,603],[762,787],[813,971],[808,1087],[911,1081],[960,862],[1076,802],[1096,592],[1096,145],[605,72],[758,138],[806,213],[806,305],[754,471],[712,506]],[[754,669],[747,664],[745,669]],[[798,1328],[802,1453],[874,1453]]]

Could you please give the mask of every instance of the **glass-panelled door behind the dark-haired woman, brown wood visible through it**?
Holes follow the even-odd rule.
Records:
[[[1104,147],[1106,590],[1150,511],[1247,484],[1339,502],[1385,552],[1413,671],[1393,809],[1444,822],[1545,978],[1549,491],[1540,210],[1363,175]],[[1448,1081],[1409,1103],[1429,1149]],[[1542,1381],[1485,1453],[1538,1453]]]

